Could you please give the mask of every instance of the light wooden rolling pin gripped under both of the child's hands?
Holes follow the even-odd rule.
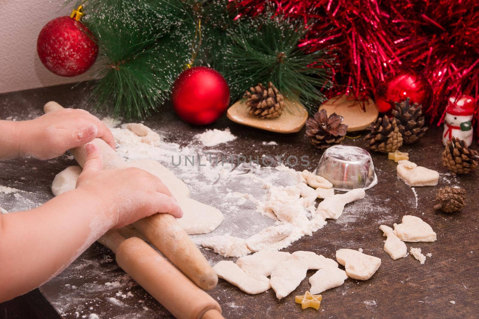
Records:
[[[47,102],[44,107],[45,113],[59,109],[63,107],[54,101]],[[104,169],[126,167],[125,161],[105,141],[95,138],[93,143],[102,151]],[[71,149],[70,153],[83,167],[86,161],[85,146]],[[134,225],[149,242],[200,288],[209,290],[217,285],[218,276],[215,271],[173,216],[158,213],[138,220]]]

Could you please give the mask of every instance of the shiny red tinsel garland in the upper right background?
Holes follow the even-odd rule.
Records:
[[[421,72],[434,99],[425,110],[442,121],[450,96],[479,97],[479,1],[477,0],[236,0],[240,14],[257,15],[270,3],[278,12],[314,20],[300,45],[340,50],[336,84],[327,94],[365,99],[387,74]],[[476,104],[474,119],[478,123]]]

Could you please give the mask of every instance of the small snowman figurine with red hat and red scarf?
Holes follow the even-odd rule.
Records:
[[[450,97],[444,118],[443,144],[447,145],[453,137],[464,140],[468,146],[472,144],[472,116],[474,115],[474,98],[463,95],[460,98]]]

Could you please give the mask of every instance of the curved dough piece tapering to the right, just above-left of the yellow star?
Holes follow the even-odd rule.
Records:
[[[308,269],[329,269],[337,267],[334,260],[317,255],[313,252],[297,251],[291,258],[278,264],[271,274],[271,287],[276,298],[281,299],[289,295],[301,284]]]

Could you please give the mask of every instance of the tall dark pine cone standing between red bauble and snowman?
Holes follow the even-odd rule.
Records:
[[[412,144],[419,140],[426,131],[424,127],[424,117],[422,115],[422,105],[418,103],[409,104],[410,99],[406,98],[401,103],[395,102],[395,110],[392,115],[398,120],[399,132],[402,134],[404,144]]]

